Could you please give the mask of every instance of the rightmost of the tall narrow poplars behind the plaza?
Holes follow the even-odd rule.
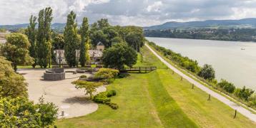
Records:
[[[88,24],[88,18],[83,18],[82,27],[80,28],[80,34],[81,34],[81,43],[80,43],[80,55],[79,55],[79,62],[82,67],[84,67],[85,63],[87,62],[86,53],[86,43],[89,40],[89,24]]]

